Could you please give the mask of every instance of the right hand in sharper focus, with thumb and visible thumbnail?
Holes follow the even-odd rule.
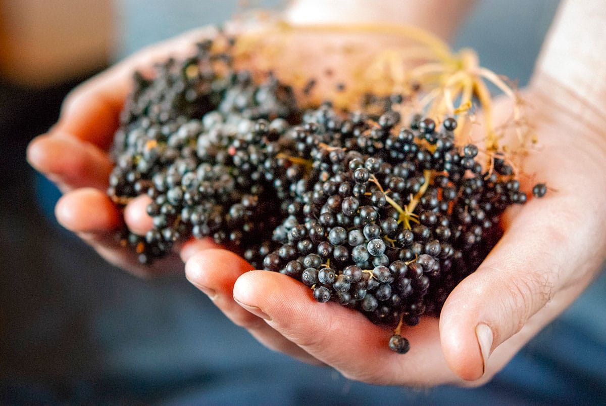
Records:
[[[231,252],[193,255],[188,279],[267,347],[351,379],[417,387],[488,381],[581,294],[606,257],[606,175],[596,171],[606,158],[604,118],[569,115],[567,106],[582,101],[557,83],[537,81],[525,100],[539,150],[524,162],[529,177],[522,186],[544,181],[550,191],[506,213],[501,241],[450,294],[440,319],[405,329],[407,354],[387,348],[390,329],[336,303],[315,302],[290,277],[247,272],[250,265]],[[501,118],[511,111],[507,101],[494,110]]]

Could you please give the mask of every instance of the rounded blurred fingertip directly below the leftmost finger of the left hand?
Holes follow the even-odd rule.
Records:
[[[63,195],[55,206],[55,215],[59,224],[73,232],[107,232],[122,223],[113,201],[93,188],[76,189]]]

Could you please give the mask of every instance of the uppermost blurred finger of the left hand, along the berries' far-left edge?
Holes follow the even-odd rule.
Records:
[[[107,150],[118,129],[124,100],[132,87],[132,75],[140,70],[149,75],[156,61],[172,55],[188,55],[195,42],[216,35],[216,29],[206,27],[141,50],[116,66],[99,73],[76,87],[65,98],[58,123],[52,132],[72,134],[88,143]]]

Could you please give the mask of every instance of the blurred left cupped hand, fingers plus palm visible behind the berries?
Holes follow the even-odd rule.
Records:
[[[280,30],[264,30],[258,24],[254,21],[227,24],[230,32],[251,34],[248,41],[253,45],[248,56],[241,58],[242,67],[255,66],[263,71],[271,66],[279,76],[318,78],[318,84],[307,96],[313,100],[319,100],[329,91],[335,93],[344,76],[352,75],[348,69],[353,70],[372,52],[402,41],[397,36],[371,38],[351,33],[292,32],[286,35]],[[261,36],[256,35],[259,31],[263,32]],[[64,193],[55,208],[59,223],[90,243],[108,262],[140,276],[181,271],[179,252],[182,249],[185,249],[182,258],[187,259],[187,252],[217,246],[210,240],[190,239],[148,266],[139,263],[130,246],[121,245],[118,231],[124,223],[130,231],[144,235],[151,228],[151,219],[144,210],[149,202],[147,197],[136,198],[122,210],[106,194],[113,167],[108,150],[119,126],[119,115],[136,70],[153,75],[154,63],[169,56],[193,55],[196,42],[217,34],[213,27],[195,30],[141,50],[86,81],[68,95],[58,123],[28,146],[30,164]],[[262,42],[255,42],[259,38]],[[261,43],[265,44],[265,52],[256,46]],[[349,50],[351,44],[355,44],[356,52]],[[347,51],[337,52],[339,49]],[[279,50],[279,61],[275,60],[276,50]]]

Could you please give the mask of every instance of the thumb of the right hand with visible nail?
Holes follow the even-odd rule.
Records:
[[[456,286],[444,303],[442,351],[448,366],[462,379],[481,378],[491,363],[491,352],[544,308],[566,279],[562,264],[570,263],[574,255],[567,247],[574,238],[570,229],[554,225],[552,216],[542,214],[549,211],[534,210],[539,204],[532,201],[524,208],[528,211],[519,212],[478,270]],[[493,363],[504,365],[514,353],[508,352],[507,359],[500,354]]]

